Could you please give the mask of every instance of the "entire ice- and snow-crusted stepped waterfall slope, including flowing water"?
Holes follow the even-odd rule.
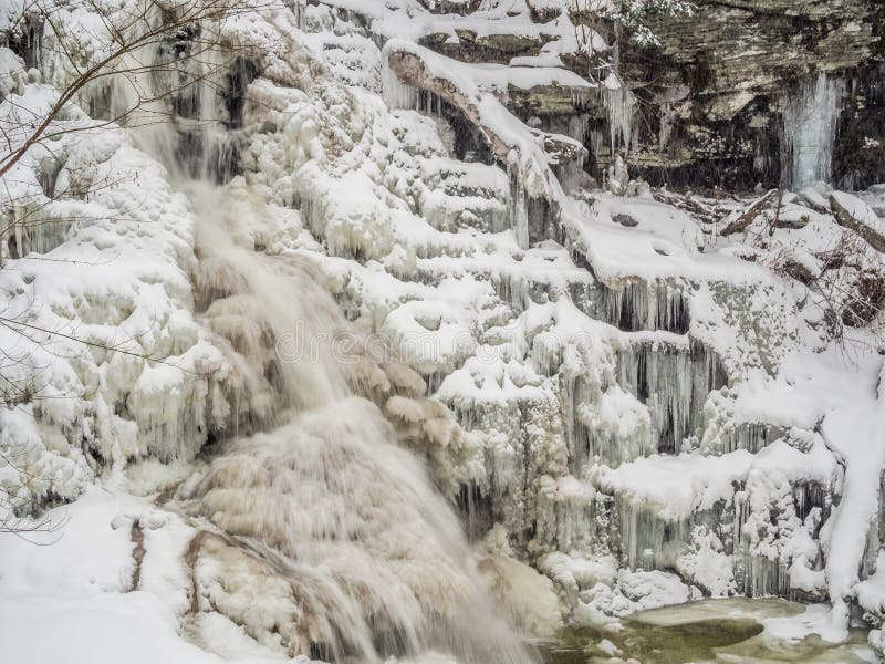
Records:
[[[593,189],[584,146],[629,151],[638,113],[561,66],[602,38],[562,19],[538,55],[461,62],[429,27],[542,27],[427,4],[204,20],[4,176],[8,507],[148,496],[107,537],[143,549],[126,584],[97,578],[174,587],[163,615],[233,660],[523,662],[517,631],[701,595],[829,601],[829,639],[854,606],[881,625],[882,321],[855,304],[881,193],[716,203],[741,237],[623,160]],[[2,51],[4,127],[74,75],[54,46]],[[539,86],[568,90],[564,128],[520,115]],[[793,188],[827,179],[840,91],[784,102]]]

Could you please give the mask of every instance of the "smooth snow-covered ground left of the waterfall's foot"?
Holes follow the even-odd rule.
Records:
[[[190,580],[183,556],[195,530],[108,478],[46,516],[54,532],[4,536],[0,572],[3,657],[37,662],[183,664],[275,662],[233,625],[215,630],[212,654],[183,633]],[[114,487],[114,488],[112,488]],[[134,554],[134,529],[142,535]],[[143,538],[143,540],[142,540]],[[51,637],[46,625],[52,625]],[[125,653],[125,655],[124,655]]]

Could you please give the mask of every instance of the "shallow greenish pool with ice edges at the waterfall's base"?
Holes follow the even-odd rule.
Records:
[[[824,614],[823,606],[778,599],[705,600],[636,613],[620,629],[566,629],[539,647],[546,664],[875,662],[865,630],[839,644],[809,635],[803,625]]]

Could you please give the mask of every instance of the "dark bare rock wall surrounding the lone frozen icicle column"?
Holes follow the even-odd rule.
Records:
[[[697,6],[691,17],[652,20],[659,46],[624,51],[622,75],[644,102],[631,164],[687,186],[790,184],[784,106],[825,72],[843,82],[833,178],[852,187],[882,179],[881,3]]]

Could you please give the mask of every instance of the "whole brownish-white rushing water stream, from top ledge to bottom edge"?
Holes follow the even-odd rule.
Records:
[[[134,129],[198,219],[197,287],[232,371],[275,393],[241,405],[261,414],[253,424],[263,433],[238,436],[235,413],[229,437],[169,504],[205,526],[187,556],[192,622],[217,611],[266,645],[327,661],[437,650],[462,662],[528,663],[494,615],[452,509],[378,405],[358,394],[368,361],[335,355],[331,341],[347,323],[334,300],[294,260],[238,241],[241,220],[212,167],[226,138],[212,81],[231,60],[211,53],[201,66],[220,73],[195,76],[179,94],[195,102],[189,122]],[[241,396],[260,402],[258,392]]]

